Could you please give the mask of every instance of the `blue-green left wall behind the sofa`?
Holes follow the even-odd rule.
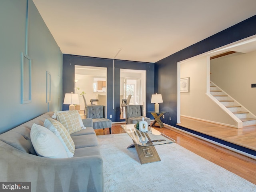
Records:
[[[52,77],[49,110],[62,108],[62,52],[29,0],[28,56],[32,59],[32,102],[21,104],[21,52],[25,53],[26,0],[4,0],[0,6],[0,133],[48,111],[46,71]]]

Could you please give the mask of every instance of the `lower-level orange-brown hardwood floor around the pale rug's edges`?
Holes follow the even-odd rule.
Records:
[[[200,122],[198,122],[200,124]],[[121,124],[112,124],[112,134],[124,133]],[[233,172],[234,174],[256,184],[256,160],[216,146],[179,130],[164,127],[154,128],[176,140],[176,143],[195,154]],[[239,133],[239,130],[237,130]],[[95,130],[97,135],[109,134],[109,130]],[[245,131],[246,132],[246,131]],[[161,156],[161,154],[159,154]]]

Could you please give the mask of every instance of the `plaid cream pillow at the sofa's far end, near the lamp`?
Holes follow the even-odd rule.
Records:
[[[69,134],[78,132],[82,130],[81,116],[77,110],[72,111],[57,111],[56,112],[57,120],[66,127]],[[81,120],[82,121],[82,120]]]

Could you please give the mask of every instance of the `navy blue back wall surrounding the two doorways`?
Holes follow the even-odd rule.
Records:
[[[146,70],[146,110],[154,110],[151,104],[151,95],[154,94],[154,63],[133,62],[115,60],[115,78],[113,81],[113,60],[104,58],[92,58],[86,56],[75,56],[63,54],[63,99],[65,93],[74,92],[75,65],[95,66],[107,68],[107,114],[112,114],[112,122],[124,121],[119,119],[120,114],[120,69]],[[113,109],[113,83],[114,109]],[[63,103],[63,102],[62,102]],[[62,110],[68,110],[68,105],[63,105]],[[150,114],[147,114],[150,115]]]

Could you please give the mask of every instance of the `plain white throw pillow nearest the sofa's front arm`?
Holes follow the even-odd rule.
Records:
[[[60,140],[47,128],[34,123],[30,131],[30,139],[38,156],[68,158]]]

